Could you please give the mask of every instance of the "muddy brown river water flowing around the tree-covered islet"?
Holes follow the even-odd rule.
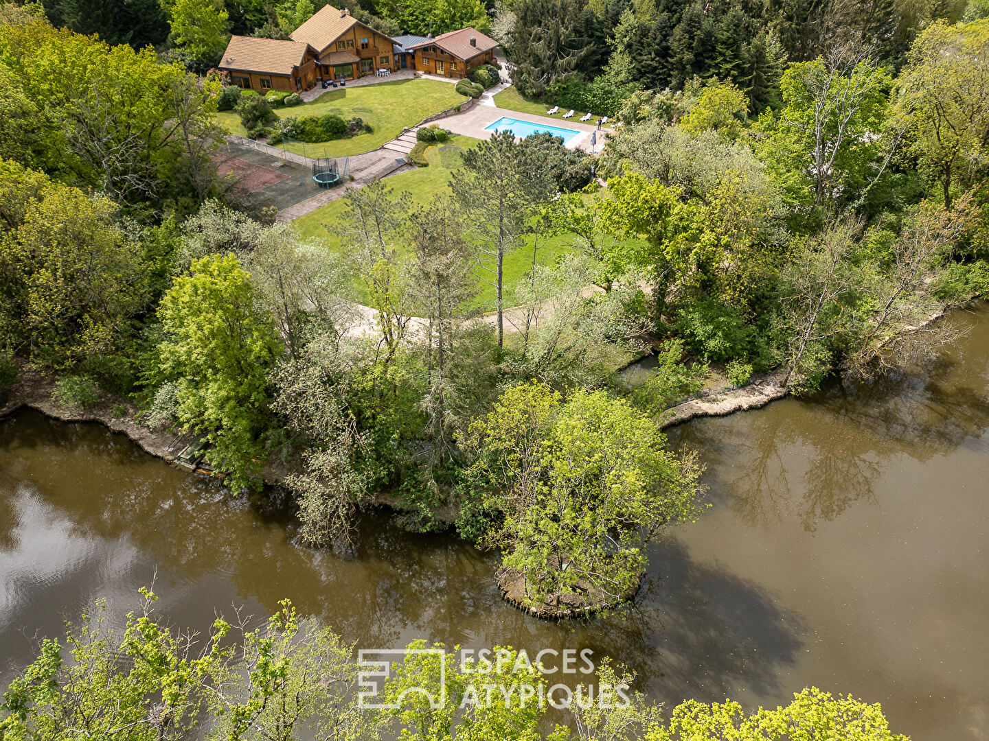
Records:
[[[0,661],[155,580],[159,609],[205,628],[291,598],[360,647],[413,638],[590,648],[668,705],[783,703],[809,685],[882,703],[914,739],[989,737],[989,310],[924,372],[831,384],[670,431],[700,449],[711,508],[651,550],[624,617],[526,617],[495,558],[368,515],[352,553],[299,546],[263,497],[231,497],[98,425],[22,411],[0,423]]]

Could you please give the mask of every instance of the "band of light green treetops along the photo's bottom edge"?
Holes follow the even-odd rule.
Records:
[[[196,635],[158,622],[157,596],[140,592],[141,608],[127,616],[123,634],[107,626],[106,606],[98,602],[95,614],[68,625],[64,641],[42,642],[39,658],[3,696],[0,737],[371,741],[391,737],[397,723],[410,741],[909,741],[889,730],[879,704],[813,687],[789,704],[751,713],[732,700],[687,700],[665,721],[662,704],[606,657],[566,711],[576,733],[558,725],[544,735],[549,683],[527,655],[494,646],[462,656],[457,646],[448,652],[421,639],[407,645],[405,660],[369,698],[400,706],[364,709],[357,693],[367,688],[358,684],[354,645],[299,617],[288,600],[255,629],[218,617]]]

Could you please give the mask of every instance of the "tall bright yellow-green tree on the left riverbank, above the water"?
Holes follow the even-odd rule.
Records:
[[[161,381],[179,384],[179,423],[204,434],[230,485],[259,483],[270,426],[267,371],[282,352],[250,277],[232,255],[195,260],[158,306]]]

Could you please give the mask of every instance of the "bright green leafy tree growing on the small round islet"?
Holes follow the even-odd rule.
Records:
[[[650,417],[603,391],[564,402],[538,382],[513,386],[470,443],[503,514],[484,542],[525,576],[533,604],[579,585],[613,604],[636,585],[645,544],[697,512],[696,457],[668,452]]]

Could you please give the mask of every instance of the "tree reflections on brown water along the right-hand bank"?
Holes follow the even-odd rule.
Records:
[[[671,437],[703,452],[712,496],[727,498],[745,522],[767,526],[792,514],[814,532],[874,500],[897,456],[924,462],[985,434],[989,396],[958,382],[968,372],[942,360],[923,378],[834,382],[812,398],[696,421]]]

